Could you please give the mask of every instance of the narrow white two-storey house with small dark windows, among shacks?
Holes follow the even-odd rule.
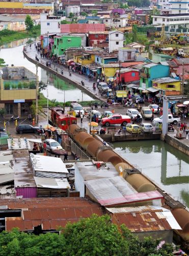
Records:
[[[120,31],[109,32],[109,53],[123,47],[124,33]]]

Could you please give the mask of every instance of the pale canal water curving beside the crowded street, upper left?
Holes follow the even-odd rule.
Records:
[[[15,45],[20,44],[20,46],[17,46],[17,47],[9,48],[8,44],[1,46],[0,58],[3,58],[5,60],[6,65],[11,66],[13,64],[14,66],[24,66],[26,69],[29,69],[33,73],[36,73],[36,66],[32,62],[30,62],[28,59],[23,57],[22,40],[18,40],[18,41],[14,42]],[[77,89],[75,86],[73,86],[73,84],[69,82],[65,82],[64,80],[56,77],[55,75],[47,72],[44,69],[38,68],[38,76],[39,76],[39,80],[48,84],[47,86],[48,98],[50,100],[56,99],[57,101],[64,102],[64,94],[65,94],[65,102],[93,100],[90,96],[83,93],[81,90]],[[42,93],[46,97],[47,91],[43,90]]]

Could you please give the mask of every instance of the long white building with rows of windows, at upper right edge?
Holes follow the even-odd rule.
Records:
[[[162,27],[165,24],[168,32],[187,33],[189,31],[189,13],[154,15],[152,18],[153,26]]]

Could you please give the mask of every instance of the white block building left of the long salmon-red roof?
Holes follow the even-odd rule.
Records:
[[[61,20],[65,17],[48,16],[48,13],[41,13],[41,35],[61,32]]]

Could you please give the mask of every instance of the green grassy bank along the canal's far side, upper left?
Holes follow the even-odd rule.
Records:
[[[5,44],[6,42],[12,42],[19,39],[24,39],[28,37],[37,37],[41,34],[40,26],[35,26],[31,31],[12,31],[4,29],[0,31],[0,45]]]

